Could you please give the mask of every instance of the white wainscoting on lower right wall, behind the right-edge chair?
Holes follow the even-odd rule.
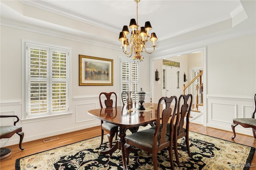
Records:
[[[207,127],[232,131],[233,119],[251,118],[252,111],[253,96],[207,95]],[[236,132],[252,136],[251,128],[237,126]]]

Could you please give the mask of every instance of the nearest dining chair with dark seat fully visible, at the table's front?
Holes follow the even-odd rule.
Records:
[[[170,107],[173,102],[175,102],[174,109]],[[163,106],[162,103],[165,104],[165,107]],[[162,97],[158,101],[155,130],[148,128],[146,130],[135,132],[126,136],[126,144],[124,146],[124,150],[126,153],[127,164],[129,164],[129,150],[135,152],[138,149],[141,149],[152,154],[154,170],[157,170],[157,167],[158,167],[157,153],[160,150],[168,147],[171,168],[174,169],[173,154],[172,154],[172,141],[173,141],[174,127],[171,125],[173,125],[174,123],[174,116],[172,115],[176,113],[176,109],[177,109],[176,96]],[[171,119],[169,119],[170,117]],[[169,134],[167,135],[168,125],[170,130],[169,130]]]

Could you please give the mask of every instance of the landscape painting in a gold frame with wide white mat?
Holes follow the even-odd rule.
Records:
[[[79,85],[113,85],[113,59],[79,55]]]

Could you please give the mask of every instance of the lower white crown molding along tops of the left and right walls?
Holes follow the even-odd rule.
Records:
[[[82,42],[82,43],[87,43],[90,45],[96,45],[96,46],[100,46],[100,47],[106,47],[109,49],[114,49],[114,50],[118,50],[119,49],[119,41],[117,42],[109,42],[106,41],[104,42],[104,40],[102,39],[92,39],[92,38],[86,38],[86,36],[81,37],[81,36],[76,36],[74,34],[71,33],[65,33],[65,32],[60,32],[60,31],[54,31],[54,30],[49,30],[49,29],[44,29],[41,27],[37,27],[37,26],[32,26],[30,24],[24,24],[24,23],[20,23],[20,22],[16,22],[13,20],[7,20],[2,18],[0,20],[0,25],[1,26],[6,26],[6,27],[10,27],[10,28],[16,28],[19,30],[24,30],[24,31],[28,31],[28,32],[34,32],[34,33],[38,33],[38,34],[44,34],[47,36],[53,36],[56,38],[64,38],[66,40],[72,40],[72,41],[76,41],[76,42]],[[172,53],[176,53],[179,52],[180,50],[184,50],[184,49],[193,49],[193,48],[198,48],[198,47],[202,47],[205,46],[208,43],[214,43],[214,42],[219,42],[222,40],[228,40],[231,38],[236,38],[236,37],[240,37],[240,36],[244,36],[244,35],[249,35],[249,34],[255,34],[255,30],[254,29],[248,29],[248,30],[243,30],[240,32],[234,32],[232,34],[224,34],[224,35],[208,35],[208,36],[202,36],[202,37],[197,37],[194,38],[192,40],[188,40],[188,41],[184,41],[184,42],[179,42],[179,43],[175,43],[172,45],[166,45],[163,47],[158,47],[156,51],[154,51],[154,57],[159,57],[159,56],[164,56],[164,55],[169,55]],[[95,35],[94,35],[95,36]],[[160,51],[160,52],[158,52]]]

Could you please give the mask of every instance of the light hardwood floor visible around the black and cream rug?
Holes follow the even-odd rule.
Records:
[[[194,132],[206,134],[209,136],[221,138],[224,140],[256,147],[256,139],[254,139],[252,136],[236,134],[235,140],[232,140],[231,136],[233,136],[233,132],[218,130],[210,127],[204,127],[202,125],[197,125],[193,123],[190,123],[190,130]],[[0,169],[15,170],[15,161],[17,158],[21,158],[30,154],[35,154],[37,152],[42,152],[44,150],[49,150],[49,149],[63,146],[66,144],[71,144],[71,143],[85,140],[88,138],[100,136],[100,127],[87,128],[87,129],[78,130],[75,132],[56,135],[56,136],[58,136],[60,139],[53,140],[46,143],[43,142],[45,138],[40,140],[30,141],[30,142],[24,142],[22,144],[22,146],[25,148],[23,151],[20,150],[18,144],[7,146],[7,148],[10,148],[12,150],[12,154],[0,161]],[[49,138],[51,137],[53,136],[49,136]],[[254,154],[254,157],[251,163],[254,163],[256,166],[256,154]],[[251,167],[250,170],[256,170],[256,167]]]

